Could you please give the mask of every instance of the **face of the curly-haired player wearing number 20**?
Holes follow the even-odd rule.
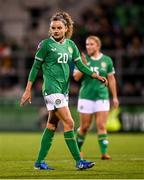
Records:
[[[50,23],[50,33],[56,41],[62,41],[65,38],[66,32],[67,27],[62,21],[52,21]]]

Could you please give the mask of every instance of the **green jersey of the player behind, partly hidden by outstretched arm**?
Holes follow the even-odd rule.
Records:
[[[96,72],[103,77],[115,73],[113,62],[111,58],[106,55],[101,54],[101,57],[95,60],[86,55],[86,59],[87,66],[93,72]],[[79,98],[89,100],[109,99],[108,87],[98,79],[92,79],[84,74],[81,81]]]

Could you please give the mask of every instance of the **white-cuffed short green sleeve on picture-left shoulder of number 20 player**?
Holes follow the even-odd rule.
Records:
[[[37,47],[37,52],[35,54],[35,59],[39,61],[44,61],[46,57],[46,43],[45,41],[41,41]]]

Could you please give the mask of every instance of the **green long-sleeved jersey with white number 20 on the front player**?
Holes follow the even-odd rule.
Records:
[[[72,40],[65,39],[63,43],[59,43],[52,37],[45,39],[38,46],[29,80],[33,82],[38,70],[42,67],[43,95],[67,94],[72,61],[84,69],[88,75],[93,73],[81,62],[78,62],[81,61],[80,53]]]

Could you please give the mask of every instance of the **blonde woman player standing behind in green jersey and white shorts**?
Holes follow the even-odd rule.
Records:
[[[118,107],[116,80],[114,67],[110,57],[100,51],[101,41],[96,36],[89,36],[86,39],[87,55],[83,54],[82,59],[85,64],[97,74],[108,79],[108,87],[97,79],[92,79],[79,70],[74,70],[75,80],[81,79],[81,88],[78,99],[78,112],[80,113],[80,127],[77,130],[77,143],[81,151],[82,145],[93,116],[96,120],[98,142],[101,150],[101,159],[110,159],[107,154],[108,136],[106,122],[110,110],[109,90],[112,94],[113,106]],[[81,152],[82,156],[82,152]]]

